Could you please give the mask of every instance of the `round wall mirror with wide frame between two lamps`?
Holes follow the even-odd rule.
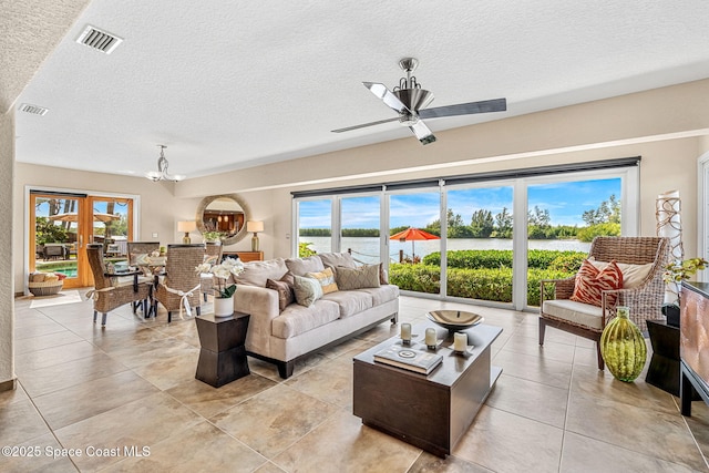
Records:
[[[203,235],[218,232],[222,243],[232,245],[246,236],[249,215],[247,205],[237,194],[224,194],[203,198],[195,219]]]

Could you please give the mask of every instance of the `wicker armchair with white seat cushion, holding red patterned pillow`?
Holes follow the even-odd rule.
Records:
[[[616,316],[617,306],[630,308],[630,319],[640,330],[647,330],[646,319],[662,319],[662,273],[669,256],[669,243],[660,237],[596,237],[588,256],[597,261],[615,259],[626,265],[651,264],[649,273],[636,287],[603,291],[600,307],[569,300],[575,278],[542,280],[540,345],[544,345],[546,327],[594,340],[598,369],[603,370],[605,363],[600,354],[600,335],[606,323]]]

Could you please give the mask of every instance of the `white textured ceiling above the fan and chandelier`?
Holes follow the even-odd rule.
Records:
[[[18,112],[17,160],[140,176],[165,144],[169,171],[196,177],[420,146],[395,122],[330,130],[392,117],[361,82],[393,88],[407,55],[430,106],[507,99],[507,112],[430,120],[434,132],[709,78],[707,18],[706,0],[94,0],[16,102],[50,110]],[[124,42],[78,44],[86,24]]]

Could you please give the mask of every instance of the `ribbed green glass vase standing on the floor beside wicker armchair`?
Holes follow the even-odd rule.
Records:
[[[647,360],[647,346],[640,329],[628,318],[627,307],[618,307],[600,336],[600,354],[608,371],[618,380],[633,382]]]

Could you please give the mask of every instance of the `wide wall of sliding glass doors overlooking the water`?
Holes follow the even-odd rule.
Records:
[[[377,260],[379,244],[404,294],[523,310],[538,305],[540,279],[575,274],[594,236],[637,235],[638,163],[370,185],[356,196],[353,188],[294,194],[299,243],[318,253],[351,249],[362,263]],[[409,228],[428,236],[392,239]]]

